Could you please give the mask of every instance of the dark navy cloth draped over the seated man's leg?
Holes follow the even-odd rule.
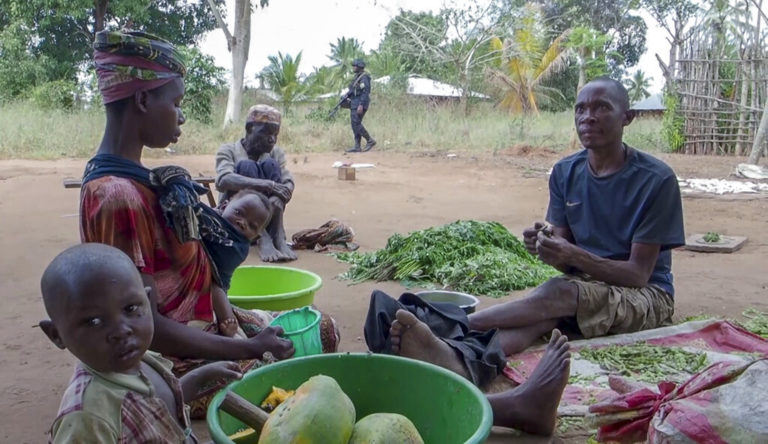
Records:
[[[459,306],[429,303],[412,293],[403,293],[398,300],[378,290],[371,294],[364,332],[365,342],[372,352],[392,353],[389,328],[400,309],[413,313],[456,351],[476,386],[486,386],[507,365],[496,337],[497,330],[482,333],[470,330],[467,315]]]

